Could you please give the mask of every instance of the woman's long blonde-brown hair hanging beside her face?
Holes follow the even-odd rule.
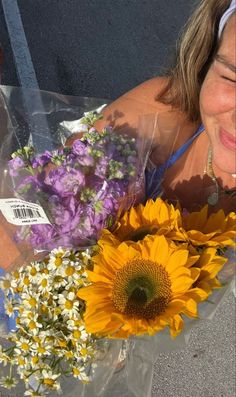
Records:
[[[168,84],[156,97],[185,112],[191,121],[200,121],[200,89],[219,48],[219,21],[230,2],[200,2],[178,42],[176,63],[168,72]]]

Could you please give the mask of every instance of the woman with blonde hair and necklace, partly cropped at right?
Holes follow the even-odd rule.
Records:
[[[150,160],[155,168],[147,172],[147,196],[155,196],[161,178],[164,197],[180,200],[187,209],[208,202],[212,211],[235,210],[235,37],[235,0],[202,0],[186,25],[168,77],[141,84],[104,111],[98,128],[109,122],[126,132],[137,131],[140,115],[160,114],[162,138],[154,137]],[[164,148],[166,123],[172,125],[172,137]],[[146,133],[148,138],[150,131]],[[157,168],[163,150],[172,149],[177,153],[169,164]]]

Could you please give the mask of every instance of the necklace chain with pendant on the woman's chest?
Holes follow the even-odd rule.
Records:
[[[234,197],[236,195],[236,188],[231,189],[231,190],[223,189],[217,182],[217,179],[216,179],[216,176],[215,176],[215,173],[213,170],[213,165],[212,165],[212,149],[211,149],[211,147],[208,149],[207,164],[206,164],[204,173],[207,174],[211,178],[211,180],[215,186],[215,191],[213,193],[211,193],[207,198],[207,202],[209,205],[216,205],[218,203],[221,192],[223,192],[229,196],[232,196],[232,197]]]

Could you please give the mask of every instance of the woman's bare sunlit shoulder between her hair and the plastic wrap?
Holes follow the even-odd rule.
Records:
[[[97,123],[97,128],[107,124],[116,129],[127,125],[136,128],[139,116],[170,110],[170,106],[156,100],[167,83],[166,77],[155,77],[128,91],[104,109],[103,119]]]

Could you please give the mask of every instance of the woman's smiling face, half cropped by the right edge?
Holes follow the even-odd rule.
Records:
[[[236,14],[227,23],[218,53],[200,92],[202,122],[214,164],[236,173]]]

